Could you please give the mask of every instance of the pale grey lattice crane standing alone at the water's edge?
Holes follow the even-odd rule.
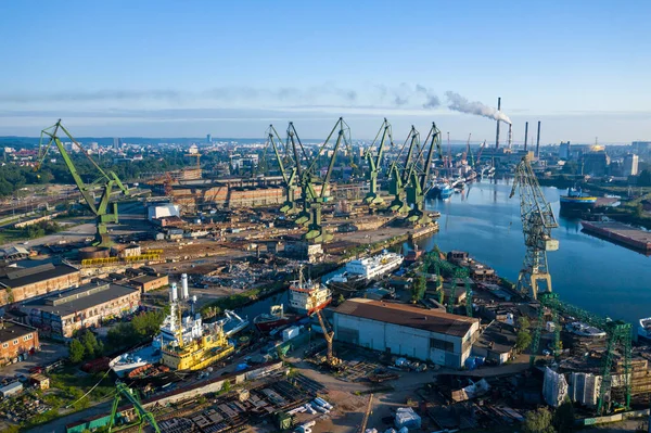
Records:
[[[524,264],[518,277],[518,290],[534,300],[538,296],[538,283],[545,282],[545,291],[551,292],[551,276],[547,265],[547,252],[557,251],[559,241],[551,238],[551,229],[559,227],[538,184],[527,156],[515,167],[513,188],[509,198],[520,190],[520,218],[524,233]]]

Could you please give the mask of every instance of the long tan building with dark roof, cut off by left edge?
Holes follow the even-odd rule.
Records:
[[[0,268],[0,306],[79,285],[79,270],[51,263]]]

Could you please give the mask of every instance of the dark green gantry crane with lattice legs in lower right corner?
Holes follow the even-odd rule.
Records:
[[[631,349],[630,349],[630,323],[626,323],[622,320],[610,320],[602,318],[592,313],[586,311],[582,308],[575,307],[571,304],[563,303],[557,293],[545,292],[540,293],[538,301],[540,302],[540,309],[538,310],[538,320],[536,328],[534,329],[534,335],[531,344],[531,358],[529,364],[533,366],[538,353],[540,345],[540,333],[542,324],[545,323],[545,309],[549,309],[552,315],[552,321],[554,323],[554,339],[553,339],[553,355],[558,356],[561,352],[560,342],[560,324],[558,317],[564,315],[574,318],[583,323],[587,323],[595,328],[598,328],[607,333],[605,340],[605,352],[601,360],[601,385],[599,386],[599,399],[597,400],[597,412],[602,415],[605,411],[605,396],[612,389],[612,367],[613,359],[615,357],[615,348],[618,346],[622,355],[622,378],[624,385],[624,402],[621,403],[625,408],[630,407],[630,373],[631,373]],[[612,398],[611,398],[612,402]]]

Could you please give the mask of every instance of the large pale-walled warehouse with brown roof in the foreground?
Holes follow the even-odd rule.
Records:
[[[354,298],[334,310],[335,339],[374,351],[461,368],[480,320],[411,305]]]

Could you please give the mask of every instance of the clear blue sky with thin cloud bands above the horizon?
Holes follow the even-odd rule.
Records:
[[[324,138],[343,116],[354,139],[386,117],[398,137],[435,122],[494,142],[496,122],[455,101],[486,113],[501,97],[515,143],[538,120],[542,143],[651,140],[648,1],[35,0],[2,16],[2,136],[62,118],[76,136],[293,120]]]

